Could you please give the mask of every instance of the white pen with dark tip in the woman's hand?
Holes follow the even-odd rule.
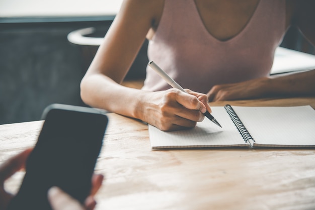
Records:
[[[163,71],[162,68],[160,68],[158,65],[156,65],[153,61],[150,61],[148,63],[148,66],[151,67],[156,73],[158,73],[167,83],[169,83],[172,87],[182,90],[183,92],[186,92],[183,87],[181,87],[174,79],[172,79],[165,71]],[[188,92],[186,92],[188,93]],[[189,93],[188,93],[189,94]],[[215,118],[206,111],[204,114],[210,121],[212,121],[215,125],[222,128],[222,126],[215,120]]]

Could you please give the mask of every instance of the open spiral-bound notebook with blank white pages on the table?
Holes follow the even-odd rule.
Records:
[[[183,131],[165,132],[149,125],[151,148],[315,147],[315,111],[310,106],[211,109],[222,128],[207,118]]]

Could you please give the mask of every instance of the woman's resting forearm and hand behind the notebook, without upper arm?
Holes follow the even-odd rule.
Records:
[[[207,95],[209,101],[275,96],[315,96],[315,70],[215,85]]]

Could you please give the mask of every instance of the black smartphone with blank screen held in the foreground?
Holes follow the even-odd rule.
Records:
[[[51,209],[48,189],[58,186],[84,203],[90,194],[108,118],[99,110],[51,104],[26,161],[26,173],[8,209]]]

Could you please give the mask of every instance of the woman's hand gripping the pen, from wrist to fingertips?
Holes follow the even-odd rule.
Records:
[[[162,131],[193,128],[204,119],[203,113],[211,108],[205,94],[186,89],[168,89],[149,92],[140,108],[142,120]]]

